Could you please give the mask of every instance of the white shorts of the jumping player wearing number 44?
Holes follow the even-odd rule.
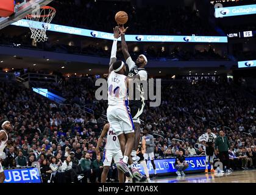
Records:
[[[107,120],[110,122],[112,129],[117,136],[122,133],[127,134],[134,132],[132,115],[130,114],[129,106],[127,105],[108,106]]]

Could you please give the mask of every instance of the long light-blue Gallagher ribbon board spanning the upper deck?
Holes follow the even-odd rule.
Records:
[[[33,23],[40,23],[34,21]],[[21,19],[12,25],[29,27],[26,19]],[[38,25],[37,25],[38,26]],[[58,24],[43,24],[39,25],[47,28],[49,31],[61,32],[65,34],[80,35],[92,38],[102,38],[113,40],[113,34],[96,30],[80,29],[70,26],[62,26]],[[121,37],[118,39],[121,41]],[[227,43],[227,37],[224,36],[176,36],[176,35],[126,35],[126,41],[137,42],[182,42],[182,43]]]

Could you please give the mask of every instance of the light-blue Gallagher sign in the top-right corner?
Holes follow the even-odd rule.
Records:
[[[248,15],[248,14],[255,14],[255,13],[256,13],[256,4],[215,8],[215,17],[216,18]]]

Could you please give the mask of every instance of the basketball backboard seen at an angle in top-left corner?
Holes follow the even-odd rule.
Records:
[[[25,18],[27,14],[32,13],[35,9],[47,5],[52,1],[53,0],[30,0],[20,4],[19,7],[16,7],[13,15],[7,18],[0,18],[0,29],[3,29],[16,21]]]

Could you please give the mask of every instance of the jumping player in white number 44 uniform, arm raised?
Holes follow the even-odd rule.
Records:
[[[123,30],[123,33],[125,30]],[[114,132],[118,136],[118,140],[123,153],[123,159],[116,163],[118,169],[124,172],[126,177],[135,177],[142,181],[146,177],[141,176],[136,166],[132,166],[131,170],[127,163],[132,165],[132,152],[134,144],[134,125],[130,114],[129,100],[127,91],[129,88],[129,80],[126,77],[126,65],[122,61],[116,61],[117,39],[121,37],[118,26],[114,28],[114,40],[112,45],[110,68],[108,70],[108,108],[107,119],[110,122]],[[128,78],[128,79],[127,79]]]

